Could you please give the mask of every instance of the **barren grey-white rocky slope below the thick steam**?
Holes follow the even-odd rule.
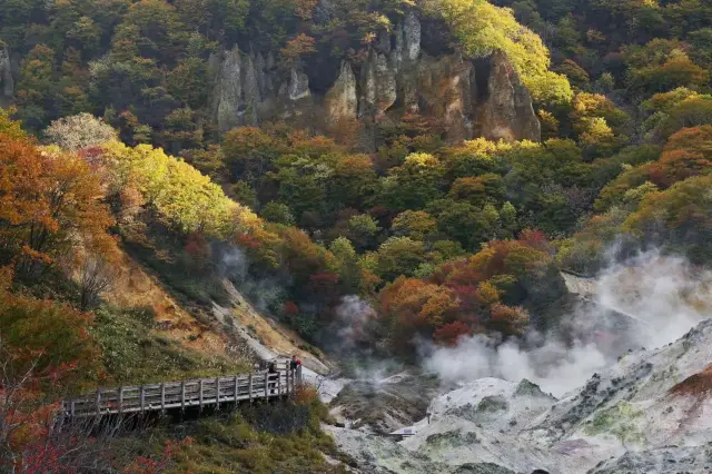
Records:
[[[435,398],[397,443],[333,428],[374,473],[704,473],[712,471],[712,320],[624,356],[561,399],[485,378]]]

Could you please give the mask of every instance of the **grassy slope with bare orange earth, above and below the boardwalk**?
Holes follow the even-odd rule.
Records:
[[[161,268],[149,268],[123,254],[119,277],[96,312],[95,335],[110,379],[138,384],[248,371],[246,358],[226,352],[229,327],[210,322],[204,302],[168,286],[174,279],[159,273]],[[199,287],[200,279],[191,285]],[[259,327],[267,345],[278,343],[279,352],[298,350],[298,337],[269,324],[247,302],[234,306],[233,314],[238,323],[249,320]],[[340,458],[333,440],[320,429],[326,417],[326,407],[310,399],[159,426],[115,443],[157,458],[166,441],[190,437],[192,443],[174,455],[168,472],[175,473],[343,473],[344,467],[324,456]]]

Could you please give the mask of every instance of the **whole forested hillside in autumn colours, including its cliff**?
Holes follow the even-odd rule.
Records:
[[[710,24],[703,0],[2,1],[4,386],[37,378],[12,409],[41,432],[48,381],[247,366],[111,304],[127,255],[198,319],[229,279],[337,357],[411,362],[555,326],[560,268],[710,265]],[[281,443],[320,436],[312,409]],[[49,455],[9,419],[0,468]],[[233,467],[283,472],[235,423]]]

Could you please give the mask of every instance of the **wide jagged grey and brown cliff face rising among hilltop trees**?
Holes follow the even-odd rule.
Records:
[[[379,34],[360,62],[343,61],[328,90],[310,88],[310,78],[323,79],[323,71],[277,67],[271,53],[222,51],[210,61],[215,121],[222,130],[274,119],[324,130],[357,120],[364,147],[374,148],[378,125],[419,113],[442,124],[452,141],[541,140],[530,93],[503,53],[476,66],[457,52],[431,56],[427,42],[409,12],[393,32]]]

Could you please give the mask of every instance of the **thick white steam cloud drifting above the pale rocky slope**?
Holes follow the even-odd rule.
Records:
[[[476,335],[454,348],[426,348],[424,368],[448,383],[527,378],[561,397],[626,349],[664,346],[712,316],[712,274],[656,251],[612,265],[596,280],[578,279],[576,285],[582,296],[600,305],[582,304],[562,322],[574,335],[573,343],[564,342],[561,333],[531,334],[524,342],[504,344]],[[603,340],[592,339],[596,330]],[[606,337],[616,343],[609,344]]]

